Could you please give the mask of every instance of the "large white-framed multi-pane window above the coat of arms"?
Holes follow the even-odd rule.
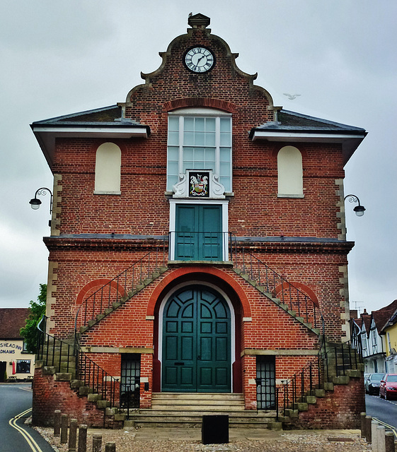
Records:
[[[168,116],[167,190],[186,169],[211,169],[231,191],[231,115],[212,109],[180,109]]]

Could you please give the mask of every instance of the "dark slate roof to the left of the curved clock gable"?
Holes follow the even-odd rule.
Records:
[[[118,105],[110,105],[110,107],[97,108],[87,110],[85,112],[78,112],[66,114],[42,121],[33,122],[32,126],[64,126],[64,125],[79,125],[85,126],[139,126],[145,127],[132,119],[122,118],[122,109]]]

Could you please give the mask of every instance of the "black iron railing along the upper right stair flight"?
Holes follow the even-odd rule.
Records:
[[[309,295],[272,270],[266,263],[256,257],[245,246],[234,247],[234,266],[240,268],[248,278],[255,280],[258,285],[265,287],[266,292],[273,297],[279,297],[282,304],[287,304],[291,311],[295,311],[298,317],[303,317],[306,323],[311,323],[314,328],[321,329],[325,335],[325,323],[323,314]]]

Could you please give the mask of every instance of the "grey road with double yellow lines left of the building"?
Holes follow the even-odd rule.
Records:
[[[38,432],[23,424],[31,414],[30,408],[30,383],[0,384],[0,452],[54,452]]]

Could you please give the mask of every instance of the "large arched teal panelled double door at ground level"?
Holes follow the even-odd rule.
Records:
[[[217,292],[195,285],[163,311],[162,391],[231,391],[231,316]]]

